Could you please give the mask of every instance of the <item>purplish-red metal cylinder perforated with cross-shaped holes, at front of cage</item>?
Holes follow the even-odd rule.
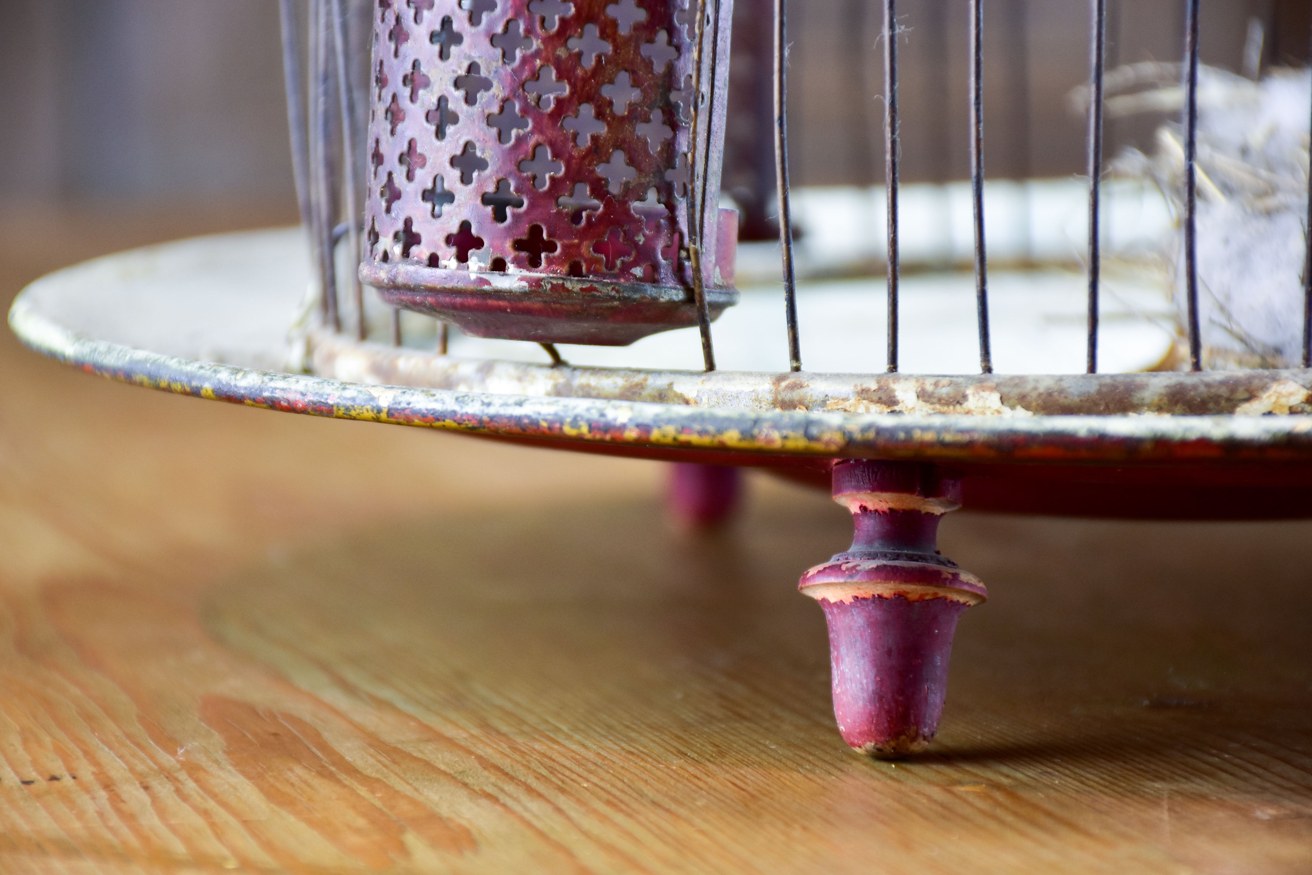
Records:
[[[689,3],[379,0],[361,278],[483,337],[623,345],[697,324]],[[732,3],[707,8],[695,206],[714,316],[737,298],[737,216],[718,206]]]

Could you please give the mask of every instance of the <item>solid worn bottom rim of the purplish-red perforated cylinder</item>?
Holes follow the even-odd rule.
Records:
[[[627,346],[698,324],[693,291],[682,286],[409,264],[365,264],[359,277],[394,307],[436,316],[474,337]],[[706,289],[712,320],[737,299],[736,289]]]

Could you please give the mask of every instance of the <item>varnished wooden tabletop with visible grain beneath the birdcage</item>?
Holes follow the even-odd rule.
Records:
[[[0,211],[4,299],[240,210]],[[278,216],[281,218],[281,216]],[[0,872],[1312,872],[1312,525],[954,514],[932,752],[653,463],[112,384],[0,337]]]

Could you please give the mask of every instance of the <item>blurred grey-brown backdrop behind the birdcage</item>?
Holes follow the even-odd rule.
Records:
[[[1082,173],[1082,0],[987,0],[991,177]],[[737,0],[726,190],[760,220],[773,177],[770,9]],[[1202,58],[1235,72],[1307,63],[1307,0],[1207,0]],[[966,178],[966,0],[899,4],[903,173]],[[1176,60],[1183,0],[1109,0],[1109,67]],[[882,181],[880,4],[795,0],[794,182]],[[0,198],[294,202],[273,0],[0,0]],[[1160,119],[1113,121],[1109,155]],[[768,197],[766,197],[768,195]],[[757,228],[760,231],[760,228]]]

